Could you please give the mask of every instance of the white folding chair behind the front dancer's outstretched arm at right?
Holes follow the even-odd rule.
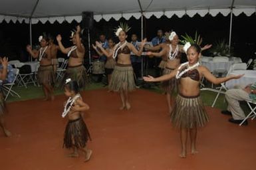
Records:
[[[245,63],[237,63],[233,64],[230,68],[229,71],[227,72],[227,75],[229,75],[233,70],[246,70],[246,64]],[[224,91],[223,91],[224,90]],[[227,87],[225,86],[225,82],[221,83],[221,87],[219,88],[219,91],[217,92],[217,95],[213,101],[213,104],[211,105],[211,108],[215,105],[217,98],[219,98],[219,94],[225,94],[227,91]]]

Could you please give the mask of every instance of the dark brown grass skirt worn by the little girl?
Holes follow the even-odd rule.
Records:
[[[90,139],[90,133],[82,118],[68,121],[64,133],[63,147],[83,148],[86,146],[88,139]]]

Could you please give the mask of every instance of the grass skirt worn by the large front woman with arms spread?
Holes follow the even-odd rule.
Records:
[[[188,97],[178,94],[171,114],[175,128],[201,128],[209,122],[200,96]]]

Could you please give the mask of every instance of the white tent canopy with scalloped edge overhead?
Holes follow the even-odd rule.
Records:
[[[0,23],[10,21],[20,23],[25,21],[36,24],[39,21],[54,23],[58,21],[71,23],[82,20],[82,11],[94,12],[95,21],[121,17],[139,19],[143,11],[146,18],[152,15],[157,18],[166,15],[182,17],[195,14],[213,17],[218,13],[227,16],[231,9],[235,16],[245,13],[250,16],[256,11],[256,0],[0,0]],[[141,8],[140,8],[141,7]],[[142,10],[141,10],[142,9]]]

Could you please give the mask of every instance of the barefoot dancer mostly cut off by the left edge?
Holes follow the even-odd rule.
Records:
[[[5,106],[5,98],[3,98],[3,93],[1,89],[1,82],[5,80],[7,76],[8,59],[6,57],[0,58],[0,63],[3,67],[3,69],[0,71],[0,126],[3,129],[3,133],[5,133],[5,136],[9,137],[11,136],[11,132],[5,127],[5,119],[3,118],[3,116],[7,110]]]

